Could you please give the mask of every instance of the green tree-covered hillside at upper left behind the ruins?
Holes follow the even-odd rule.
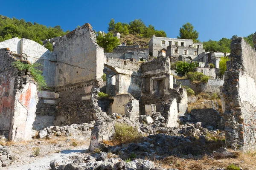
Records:
[[[43,40],[59,37],[67,34],[61,26],[47,27],[38,23],[18,20],[15,17],[8,18],[0,15],[0,42],[14,37],[27,38],[42,45]]]

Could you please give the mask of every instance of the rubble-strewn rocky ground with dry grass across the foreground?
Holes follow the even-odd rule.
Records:
[[[157,119],[156,119],[157,117]],[[0,158],[8,155],[4,170],[255,170],[256,153],[225,147],[224,131],[202,127],[180,118],[178,127],[166,127],[160,115],[140,116],[131,122],[120,115],[108,121],[137,127],[136,141],[104,140],[88,151],[90,135],[99,122],[49,127],[28,142],[1,141]],[[107,129],[107,127],[106,127]],[[108,133],[108,132],[107,132]],[[239,169],[227,169],[228,166]],[[226,168],[226,169],[225,169]]]

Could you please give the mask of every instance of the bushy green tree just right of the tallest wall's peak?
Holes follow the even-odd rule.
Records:
[[[97,36],[97,44],[104,48],[104,52],[111,53],[113,52],[113,48],[116,48],[120,42],[117,37],[113,37],[113,34],[111,32],[108,32],[108,34],[98,33]]]

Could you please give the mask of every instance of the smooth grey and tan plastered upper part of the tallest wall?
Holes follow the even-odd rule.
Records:
[[[55,42],[57,56],[56,87],[100,78],[104,69],[104,50],[96,44],[90,24],[85,24]]]

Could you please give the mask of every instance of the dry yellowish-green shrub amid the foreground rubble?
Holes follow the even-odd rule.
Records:
[[[136,127],[127,125],[125,123],[116,123],[115,133],[113,135],[113,143],[116,144],[127,144],[136,142],[142,136],[136,129]]]

